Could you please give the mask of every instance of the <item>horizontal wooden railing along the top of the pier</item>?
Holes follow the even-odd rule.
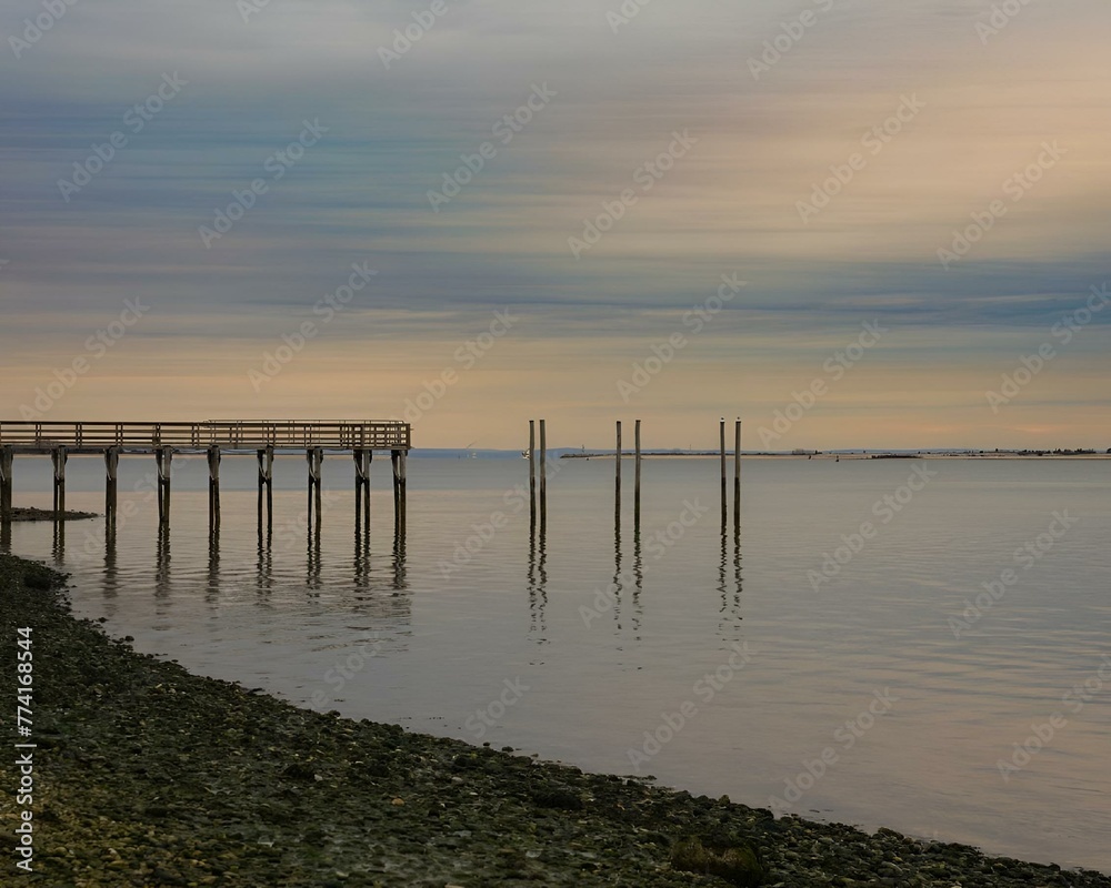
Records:
[[[0,421],[0,446],[52,450],[263,447],[409,450],[403,422],[212,420],[201,423],[87,423]]]

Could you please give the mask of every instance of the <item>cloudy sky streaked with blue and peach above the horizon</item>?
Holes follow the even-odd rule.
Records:
[[[1105,450],[1109,27],[0,0],[0,418]]]

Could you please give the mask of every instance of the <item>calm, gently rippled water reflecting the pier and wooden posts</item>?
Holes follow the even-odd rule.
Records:
[[[717,462],[653,460],[638,535],[630,462],[620,525],[612,461],[574,460],[533,526],[523,461],[412,460],[403,537],[376,463],[368,538],[331,457],[313,539],[303,457],[283,457],[261,547],[252,460],[224,461],[217,546],[203,460],[174,461],[168,535],[152,462],[121,462],[114,545],[100,519],[10,532],[141,650],[352,717],[1111,871],[1111,462],[933,461],[912,492],[909,461],[752,460],[723,532]],[[69,507],[101,508],[100,474],[71,460]],[[49,505],[48,460],[16,477],[17,504]],[[851,557],[819,583],[827,553]]]

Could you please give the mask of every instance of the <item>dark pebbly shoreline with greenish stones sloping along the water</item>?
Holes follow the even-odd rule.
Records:
[[[32,871],[4,861],[28,884],[1111,888],[1099,872],[775,820],[299,709],[134,653],[74,618],[61,587],[0,555],[6,664],[19,627],[33,639]],[[9,835],[21,821],[12,760],[0,765]]]

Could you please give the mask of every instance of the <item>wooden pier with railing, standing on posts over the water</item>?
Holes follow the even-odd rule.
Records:
[[[370,466],[374,451],[388,452],[393,468],[393,514],[406,519],[406,462],[412,427],[394,421],[297,422],[214,420],[201,423],[0,421],[0,522],[11,518],[12,468],[18,455],[50,456],[56,514],[66,511],[66,461],[70,455],[104,457],[104,518],[116,523],[120,456],[153,455],[158,468],[159,526],[170,522],[170,471],[176,453],[203,453],[209,468],[209,531],[220,528],[220,461],[254,455],[259,464],[259,531],[273,525],[273,457],[303,452],[309,464],[309,523],[320,527],[321,466],[327,452],[351,453],[356,464],[356,521],[370,523]]]

